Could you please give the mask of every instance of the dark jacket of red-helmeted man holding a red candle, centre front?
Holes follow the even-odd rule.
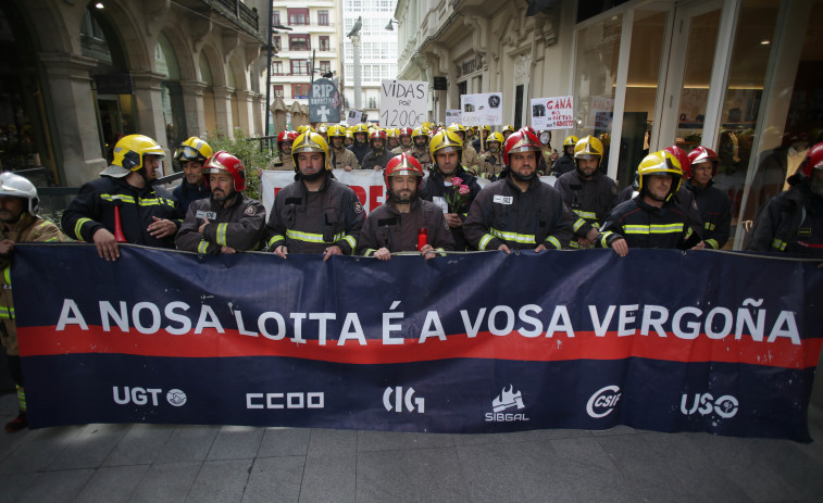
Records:
[[[372,256],[381,248],[391,253],[417,250],[417,229],[428,229],[428,244],[437,251],[454,249],[454,238],[435,203],[417,198],[409,213],[400,213],[392,201],[377,206],[365,219],[358,241],[358,254]]]

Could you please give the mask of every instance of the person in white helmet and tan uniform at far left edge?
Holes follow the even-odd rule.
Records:
[[[37,215],[39,198],[37,189],[26,178],[13,173],[0,174],[0,342],[5,349],[7,362],[12,380],[17,388],[17,417],[5,425],[5,431],[15,432],[28,426],[26,392],[17,349],[17,325],[12,300],[11,263],[14,246],[18,242],[63,242],[57,225]],[[34,280],[35,278],[33,278]]]

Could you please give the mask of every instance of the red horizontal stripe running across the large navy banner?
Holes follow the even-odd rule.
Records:
[[[76,326],[62,331],[54,327],[18,327],[22,356],[61,355],[71,353],[120,353],[169,357],[224,357],[224,356],[288,356],[351,364],[409,363],[448,359],[519,360],[553,362],[566,360],[620,360],[631,356],[672,362],[727,362],[765,365],[784,368],[807,368],[818,364],[823,338],[802,340],[793,344],[788,338],[774,342],[753,341],[744,336],[735,339],[709,339],[700,335],[684,340],[671,334],[668,337],[618,337],[607,332],[576,332],[547,338],[526,338],[513,331],[508,336],[481,332],[475,338],[465,335],[449,336],[447,340],[432,337],[421,343],[404,339],[402,344],[384,344],[382,339],[366,339],[366,345],[346,340],[338,345],[329,339],[325,345],[317,340],[294,342],[291,339],[271,340],[262,336],[240,335],[237,330],[219,334],[213,329],[202,334],[175,336],[160,330],[144,335],[136,331],[103,331],[101,327],[83,330]]]

